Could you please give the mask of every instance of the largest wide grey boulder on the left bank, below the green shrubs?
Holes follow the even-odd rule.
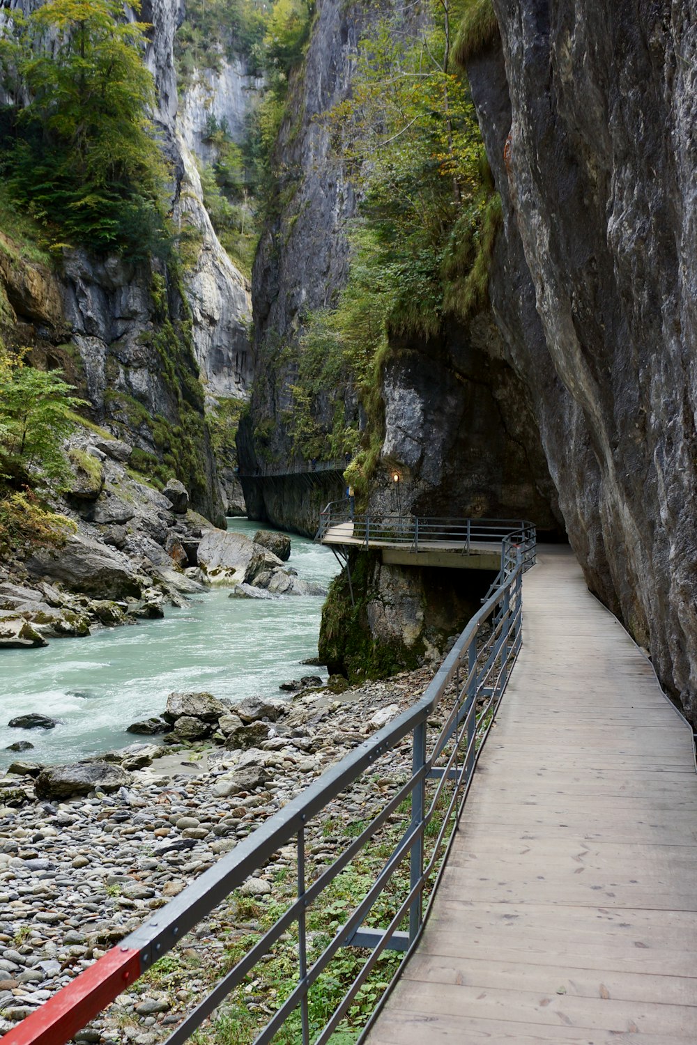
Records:
[[[34,577],[50,577],[73,591],[97,598],[138,599],[142,587],[142,579],[125,555],[83,534],[71,534],[63,548],[36,550],[26,567]]]

